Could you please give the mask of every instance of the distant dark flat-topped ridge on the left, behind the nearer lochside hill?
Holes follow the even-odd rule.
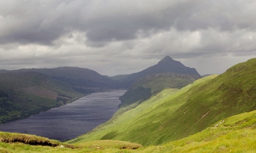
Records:
[[[116,80],[110,79],[108,76],[101,75],[96,71],[88,68],[80,67],[56,67],[56,68],[31,68],[18,70],[0,70],[0,73],[9,72],[38,72],[46,74],[49,77],[59,79],[61,81],[70,83],[75,88],[88,90],[91,92],[102,90],[103,88],[119,88]]]

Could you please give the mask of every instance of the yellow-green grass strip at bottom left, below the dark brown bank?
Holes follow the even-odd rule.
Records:
[[[0,142],[0,153],[131,153],[142,147],[140,144],[115,140],[90,141],[71,148],[69,146],[65,143],[49,147]]]

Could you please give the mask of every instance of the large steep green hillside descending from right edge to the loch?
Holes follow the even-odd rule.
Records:
[[[226,117],[256,109],[256,59],[178,92],[166,89],[112,123],[70,142],[114,139],[159,145],[202,131]]]

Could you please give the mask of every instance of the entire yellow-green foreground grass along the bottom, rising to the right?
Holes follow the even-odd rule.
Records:
[[[161,146],[142,147],[139,144],[114,140],[79,142],[69,146],[34,135],[0,132],[0,141],[7,137],[10,140],[23,139],[25,142],[49,142],[57,146],[0,142],[0,153],[255,153],[255,135],[256,110],[225,118],[201,132]],[[60,145],[66,147],[60,148]],[[139,149],[131,150],[136,148]]]

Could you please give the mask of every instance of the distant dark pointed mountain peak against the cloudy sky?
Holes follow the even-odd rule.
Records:
[[[118,75],[111,77],[113,79],[116,79],[123,83],[126,87],[129,87],[134,81],[150,75],[150,74],[156,74],[161,72],[171,72],[171,73],[177,73],[177,74],[193,74],[198,75],[200,74],[196,71],[195,68],[190,68],[184,66],[181,62],[173,60],[169,56],[165,56],[161,61],[158,62],[158,64],[154,66],[150,66],[140,72],[129,74],[129,75]]]

